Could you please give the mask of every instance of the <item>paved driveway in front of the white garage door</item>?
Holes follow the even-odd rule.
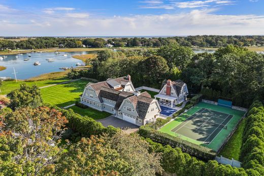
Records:
[[[97,120],[97,122],[101,122],[105,127],[112,125],[114,127],[120,128],[126,133],[132,133],[139,129],[139,126],[123,121],[114,116],[109,116],[105,119]]]

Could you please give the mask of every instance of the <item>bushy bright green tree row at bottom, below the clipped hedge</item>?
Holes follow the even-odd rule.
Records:
[[[150,152],[161,153],[161,165],[165,172],[176,173],[176,175],[195,175],[195,176],[225,176],[225,175],[254,175],[254,170],[236,168],[230,165],[218,164],[215,160],[203,162],[183,153],[180,148],[171,146],[162,146],[154,143],[151,139],[146,138],[150,145]],[[252,174],[253,173],[253,174]]]

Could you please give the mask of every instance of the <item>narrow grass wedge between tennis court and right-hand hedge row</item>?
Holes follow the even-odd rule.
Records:
[[[222,155],[225,158],[228,159],[234,158],[235,160],[239,161],[245,125],[246,125],[246,120],[243,119],[243,121],[240,123],[239,127],[233,134],[233,136],[228,140],[227,144],[219,153],[219,156]]]

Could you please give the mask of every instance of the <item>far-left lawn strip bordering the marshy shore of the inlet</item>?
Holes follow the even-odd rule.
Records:
[[[56,84],[56,83],[61,83],[69,81],[67,78],[59,78],[59,79],[53,79],[53,80],[44,80],[44,81],[32,81],[32,82],[27,82],[27,81],[4,81],[3,85],[0,87],[2,95],[8,94],[14,89],[17,89],[20,87],[20,84],[25,83],[29,86],[36,84],[38,87],[43,87],[51,84]]]

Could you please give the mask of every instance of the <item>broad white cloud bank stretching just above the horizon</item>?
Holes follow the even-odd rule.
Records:
[[[39,15],[0,20],[2,36],[187,36],[196,34],[263,34],[264,16],[216,15],[214,10],[189,13],[88,17],[86,13]],[[1,14],[1,13],[0,13]],[[4,18],[2,18],[4,19]]]

